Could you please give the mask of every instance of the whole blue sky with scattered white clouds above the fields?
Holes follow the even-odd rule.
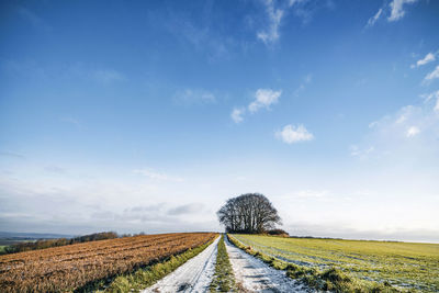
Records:
[[[439,241],[439,3],[3,1],[0,229]]]

